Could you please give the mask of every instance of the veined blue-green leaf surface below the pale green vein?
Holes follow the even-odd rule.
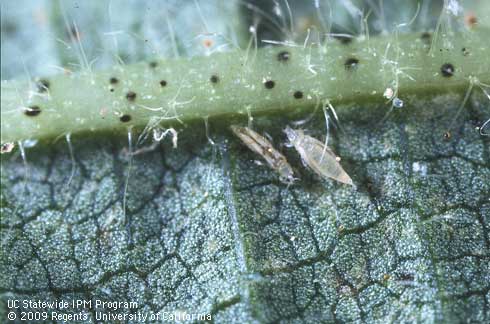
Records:
[[[355,189],[283,147],[300,177],[285,186],[223,121],[215,145],[192,125],[132,159],[114,136],[72,138],[73,158],[61,140],[26,163],[2,154],[0,318],[12,299],[77,299],[216,323],[490,322],[490,137],[475,129],[490,105],[475,92],[457,115],[463,95],[384,121],[385,105],[336,107],[329,143]],[[254,128],[279,147],[290,122]],[[304,128],[323,139],[323,115]]]

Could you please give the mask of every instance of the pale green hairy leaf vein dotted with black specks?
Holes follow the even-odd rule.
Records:
[[[475,29],[440,36],[432,49],[430,38],[408,34],[156,60],[153,67],[142,62],[58,75],[46,79],[47,90],[34,82],[4,81],[2,143],[143,128],[152,118],[165,124],[301,111],[322,100],[386,102],[387,88],[405,106],[423,94],[463,95],[470,80],[490,83],[488,34]],[[118,82],[111,84],[111,78]],[[26,107],[39,112],[28,116]]]

